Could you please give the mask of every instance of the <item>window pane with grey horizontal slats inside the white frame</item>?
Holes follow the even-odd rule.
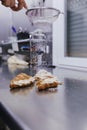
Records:
[[[87,58],[87,0],[67,0],[67,55]]]

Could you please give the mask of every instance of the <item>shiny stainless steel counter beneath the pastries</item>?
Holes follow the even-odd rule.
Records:
[[[10,90],[10,80],[36,67],[0,66],[0,116],[12,130],[86,130],[87,72],[44,68],[63,82],[57,89],[39,92],[35,86]]]

